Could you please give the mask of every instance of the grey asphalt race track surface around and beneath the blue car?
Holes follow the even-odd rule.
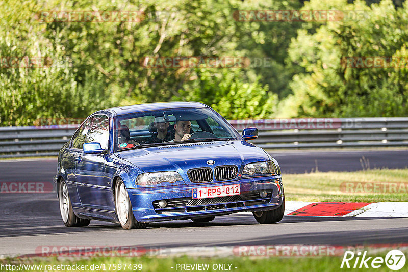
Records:
[[[270,152],[284,173],[406,168],[408,151]],[[56,159],[0,162],[0,181],[52,182]],[[213,222],[191,220],[150,223],[147,229],[91,221],[88,227],[63,225],[56,193],[0,194],[0,255],[34,254],[41,246],[241,246],[265,244],[408,243],[408,218],[335,218],[285,216],[260,225],[250,214],[219,216]],[[37,252],[38,253],[38,252]]]

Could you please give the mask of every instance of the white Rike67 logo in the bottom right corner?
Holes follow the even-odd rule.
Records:
[[[360,251],[357,253],[346,251],[340,268],[362,268],[363,266],[365,268],[369,268],[370,266],[372,268],[379,268],[385,263],[391,270],[399,270],[405,265],[405,255],[400,250],[391,250],[387,253],[385,258],[367,257],[367,251],[364,251],[363,256],[361,255],[362,253]]]

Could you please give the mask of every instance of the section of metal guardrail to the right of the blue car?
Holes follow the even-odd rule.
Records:
[[[408,117],[232,120],[258,127],[251,143],[267,149],[408,146]]]

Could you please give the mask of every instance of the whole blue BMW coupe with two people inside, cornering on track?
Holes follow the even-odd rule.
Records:
[[[165,102],[93,113],[61,148],[54,186],[67,227],[91,219],[124,229],[149,222],[251,211],[261,224],[282,220],[281,169],[256,139],[242,136],[211,107]]]

